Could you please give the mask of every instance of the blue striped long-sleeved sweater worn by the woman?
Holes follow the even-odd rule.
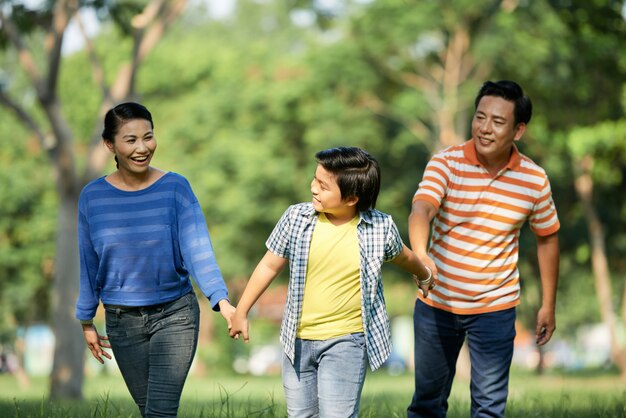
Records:
[[[149,306],[175,300],[192,290],[190,275],[214,310],[228,297],[200,204],[183,176],[166,173],[132,192],[101,177],[82,190],[78,212],[76,318],[93,318],[100,301]]]

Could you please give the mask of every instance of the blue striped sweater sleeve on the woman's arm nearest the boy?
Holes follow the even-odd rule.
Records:
[[[213,310],[217,311],[218,302],[228,299],[228,290],[215,259],[200,203],[191,187],[184,194],[179,199],[182,207],[178,216],[178,237],[183,263],[202,293],[209,299]]]

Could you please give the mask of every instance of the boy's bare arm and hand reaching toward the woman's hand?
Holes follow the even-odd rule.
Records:
[[[248,336],[248,312],[256,303],[259,297],[265,292],[265,289],[280,274],[287,265],[288,260],[267,251],[259,264],[254,269],[246,288],[239,299],[237,309],[232,317],[232,327],[230,336],[234,339],[239,338],[241,334],[244,341],[249,340]]]

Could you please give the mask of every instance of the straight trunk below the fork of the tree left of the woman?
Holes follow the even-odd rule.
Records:
[[[78,192],[59,200],[52,326],[54,363],[50,376],[52,399],[82,397],[85,341],[74,316],[78,296]]]

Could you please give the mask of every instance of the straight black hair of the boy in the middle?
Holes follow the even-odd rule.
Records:
[[[355,196],[357,210],[374,209],[380,191],[380,167],[374,157],[357,147],[337,147],[318,152],[315,159],[337,176],[342,199]]]

